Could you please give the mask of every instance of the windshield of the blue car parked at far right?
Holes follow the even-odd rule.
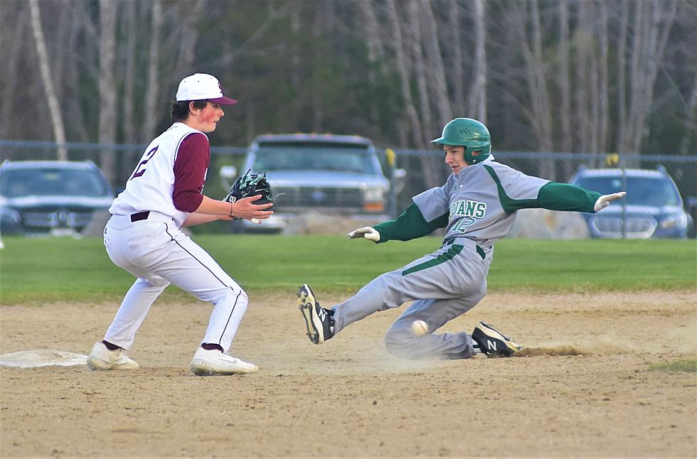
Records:
[[[584,177],[576,185],[602,195],[622,191],[622,177]],[[627,204],[661,207],[681,205],[680,196],[666,178],[627,177]]]

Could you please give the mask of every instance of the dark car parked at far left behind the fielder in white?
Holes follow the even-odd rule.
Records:
[[[114,192],[91,161],[5,161],[0,166],[0,232],[75,234],[106,211]]]

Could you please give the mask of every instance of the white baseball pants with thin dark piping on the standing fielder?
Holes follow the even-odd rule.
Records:
[[[107,330],[106,341],[128,349],[152,303],[174,284],[215,306],[201,343],[230,350],[247,311],[247,293],[171,217],[150,212],[147,220],[131,222],[129,215],[112,215],[104,244],[110,259],[138,278]]]

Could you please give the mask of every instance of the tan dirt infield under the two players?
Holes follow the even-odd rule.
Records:
[[[331,300],[318,292],[325,305]],[[156,303],[132,372],[0,367],[0,455],[697,455],[697,375],[649,365],[697,355],[694,292],[492,293],[444,330],[485,320],[524,357],[410,362],[373,315],[324,345],[287,296],[252,296],[233,355],[257,374],[195,377],[211,308]],[[88,354],[117,304],[0,306],[0,353]]]

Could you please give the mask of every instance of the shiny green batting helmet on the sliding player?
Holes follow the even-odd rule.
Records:
[[[464,162],[477,164],[491,154],[489,129],[476,119],[455,118],[445,125],[443,135],[432,144],[464,146]]]

